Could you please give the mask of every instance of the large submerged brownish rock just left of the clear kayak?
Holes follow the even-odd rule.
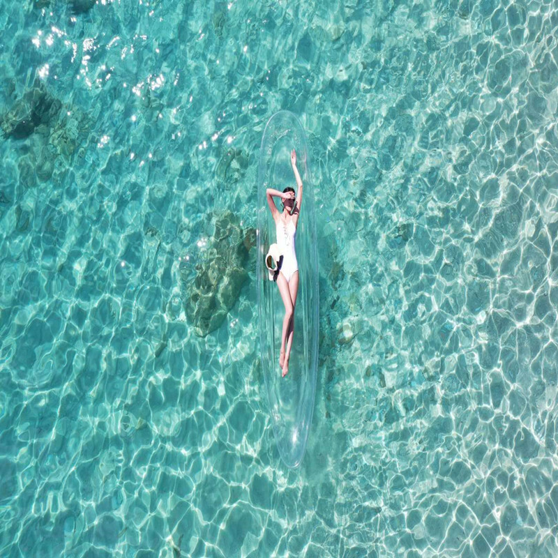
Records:
[[[253,228],[243,230],[232,211],[218,213],[215,234],[204,261],[195,268],[195,278],[188,280],[188,271],[181,268],[184,310],[198,337],[218,329],[239,298],[248,279],[246,262],[255,234]]]

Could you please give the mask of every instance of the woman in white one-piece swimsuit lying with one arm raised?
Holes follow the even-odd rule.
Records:
[[[294,202],[294,188],[287,187],[282,192],[273,190],[273,188],[267,188],[266,190],[267,203],[275,221],[277,243],[283,256],[280,272],[277,276],[277,286],[279,287],[283,304],[285,304],[285,319],[283,319],[281,351],[279,353],[282,377],[285,377],[287,372],[289,372],[289,356],[291,355],[292,338],[294,335],[294,307],[296,305],[296,294],[299,292],[299,264],[296,262],[294,241],[296,239],[296,225],[299,223],[302,204],[302,181],[299,169],[296,168],[296,152],[294,149],[291,153],[291,165],[294,178],[296,179],[296,186],[299,188],[296,203]],[[282,199],[282,213],[279,213],[277,210],[275,202],[273,202],[273,196]]]

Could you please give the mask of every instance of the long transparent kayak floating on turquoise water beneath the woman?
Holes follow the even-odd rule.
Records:
[[[276,227],[266,200],[266,189],[282,191],[296,179],[291,151],[303,181],[301,213],[296,229],[296,260],[299,264],[299,292],[294,312],[294,337],[289,373],[281,377],[279,352],[285,306],[276,282],[270,281],[264,258],[276,242]],[[278,199],[278,198],[274,198]],[[276,204],[277,205],[277,204]],[[281,211],[281,206],[278,206]],[[316,391],[318,356],[318,255],[315,199],[306,137],[301,123],[282,110],[269,119],[259,153],[257,192],[257,306],[259,344],[269,412],[279,454],[287,467],[298,467],[306,442]]]

